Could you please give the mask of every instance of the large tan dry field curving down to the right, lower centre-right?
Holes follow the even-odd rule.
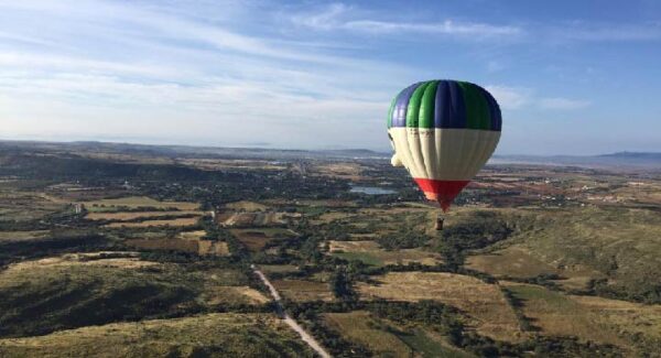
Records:
[[[445,272],[390,272],[373,279],[380,284],[359,283],[357,286],[364,300],[436,300],[475,318],[473,324],[483,335],[512,341],[524,337],[498,285]]]

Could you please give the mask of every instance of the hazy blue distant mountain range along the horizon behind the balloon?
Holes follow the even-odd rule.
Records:
[[[54,151],[84,151],[118,154],[161,155],[171,158],[249,158],[266,160],[295,159],[389,159],[391,153],[367,149],[343,150],[289,150],[268,148],[221,148],[192,145],[149,145],[111,142],[36,142],[1,141],[0,150],[32,149]],[[618,152],[602,155],[494,155],[490,164],[542,164],[585,167],[658,169],[661,170],[661,153]]]

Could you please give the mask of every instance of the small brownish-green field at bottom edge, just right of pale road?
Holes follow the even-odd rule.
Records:
[[[326,313],[324,318],[344,337],[368,347],[378,357],[413,356],[413,350],[395,335],[384,329],[378,329],[379,322],[375,321],[367,312]]]

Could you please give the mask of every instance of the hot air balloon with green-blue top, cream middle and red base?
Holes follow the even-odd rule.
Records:
[[[394,97],[388,112],[391,163],[403,165],[426,198],[447,211],[496,150],[501,124],[498,102],[477,85],[416,83]],[[436,228],[442,224],[440,216]]]

